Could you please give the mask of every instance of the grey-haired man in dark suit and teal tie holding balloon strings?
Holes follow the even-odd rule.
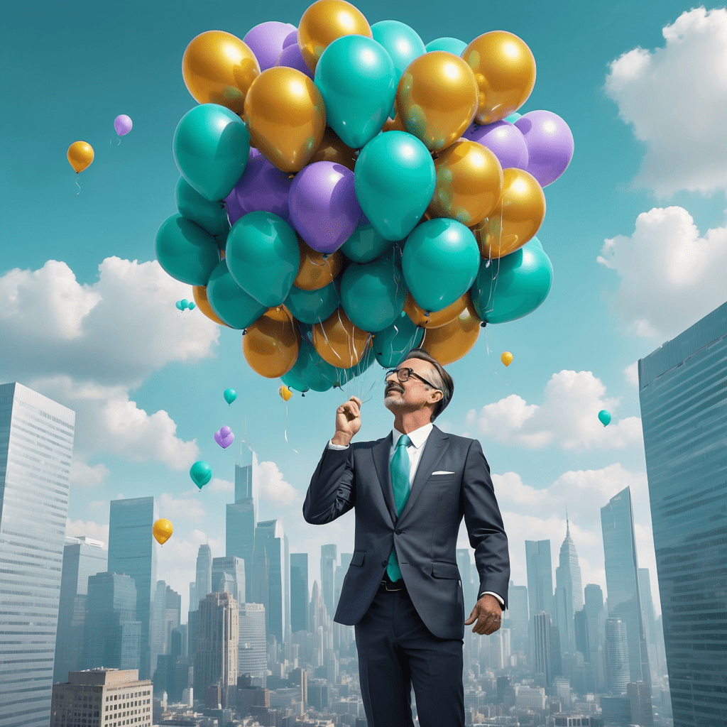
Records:
[[[305,496],[308,523],[356,513],[334,621],[356,627],[369,727],[413,727],[412,685],[421,727],[464,727],[465,624],[489,635],[507,608],[507,536],[481,445],[432,424],[453,391],[438,361],[411,350],[386,375],[393,431],[351,443],[361,428],[361,401],[352,396],[336,411]],[[456,555],[463,516],[480,575],[466,621]]]

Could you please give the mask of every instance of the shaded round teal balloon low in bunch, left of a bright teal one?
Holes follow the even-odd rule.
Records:
[[[406,284],[393,260],[352,263],[341,278],[341,305],[351,323],[376,333],[398,318],[406,303]]]

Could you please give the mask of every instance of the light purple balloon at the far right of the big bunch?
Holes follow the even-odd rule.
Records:
[[[557,113],[529,111],[515,126],[528,145],[528,166],[541,187],[553,184],[566,171],[573,158],[573,134]]]

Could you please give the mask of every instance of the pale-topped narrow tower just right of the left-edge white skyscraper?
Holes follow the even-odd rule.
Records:
[[[104,573],[107,563],[108,551],[100,540],[85,536],[65,539],[53,661],[54,682],[65,682],[69,672],[81,669],[89,576]]]

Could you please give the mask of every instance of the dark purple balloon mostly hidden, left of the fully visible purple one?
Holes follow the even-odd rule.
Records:
[[[289,222],[291,183],[288,174],[270,164],[262,154],[251,155],[245,173],[225,197],[230,225],[249,212],[273,212]]]

